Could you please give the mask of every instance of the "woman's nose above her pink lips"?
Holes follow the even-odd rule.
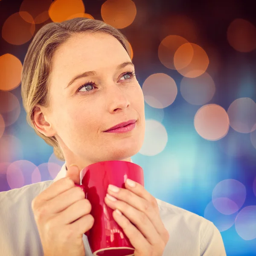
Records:
[[[128,95],[125,93],[125,89],[121,89],[121,86],[125,85],[118,85],[113,84],[108,87],[107,93],[107,104],[108,104],[108,111],[110,113],[116,112],[118,110],[123,110],[128,108],[130,102],[128,100]]]

